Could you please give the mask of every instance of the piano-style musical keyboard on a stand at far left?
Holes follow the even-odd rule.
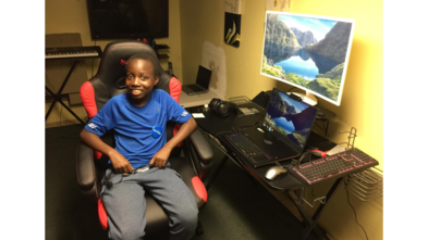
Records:
[[[101,58],[101,54],[102,51],[99,46],[45,49],[45,59]]]

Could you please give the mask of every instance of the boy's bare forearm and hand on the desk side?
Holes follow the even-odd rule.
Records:
[[[155,155],[151,157],[149,164],[155,165],[157,167],[162,167],[167,163],[167,160],[170,157],[172,149],[182,142],[186,137],[188,137],[196,129],[196,122],[193,117],[188,118],[186,123],[184,123],[176,135],[171,138],[167,144],[163,146]]]

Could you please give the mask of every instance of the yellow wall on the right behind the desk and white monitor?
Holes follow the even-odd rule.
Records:
[[[201,61],[203,43],[209,41],[224,50],[225,99],[235,96],[254,98],[261,90],[271,90],[272,87],[289,90],[291,86],[260,75],[265,9],[266,3],[262,0],[243,1],[241,46],[234,48],[223,43],[224,1],[181,0],[184,83],[195,79],[196,66]],[[335,106],[325,100],[319,100],[319,105],[338,115],[329,130],[334,141],[347,141],[346,134],[338,132],[355,127],[355,147],[377,159],[380,162],[379,167],[383,168],[382,1],[291,0],[290,12],[356,20],[341,105]],[[315,194],[325,195],[331,184],[318,186],[314,190]],[[307,194],[309,199],[310,195]],[[369,239],[382,239],[383,199],[362,202],[351,195],[350,200]],[[308,211],[314,212],[310,207]],[[319,225],[337,239],[365,239],[347,204],[343,184],[322,212]]]

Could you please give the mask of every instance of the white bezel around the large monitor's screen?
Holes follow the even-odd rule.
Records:
[[[310,18],[320,18],[320,20],[329,20],[329,21],[338,21],[338,22],[345,22],[345,23],[351,23],[351,33],[350,33],[350,38],[348,38],[348,42],[347,42],[347,51],[346,51],[346,56],[345,56],[345,62],[344,62],[344,66],[343,66],[343,74],[342,74],[342,78],[341,78],[341,85],[339,88],[339,93],[338,93],[338,100],[334,101],[333,99],[327,98],[326,96],[322,96],[319,92],[316,92],[314,90],[310,90],[306,87],[303,87],[301,85],[294,84],[292,81],[289,81],[286,79],[282,79],[272,75],[268,75],[265,74],[262,72],[262,66],[264,66],[264,55],[265,55],[265,38],[266,38],[266,25],[267,25],[267,17],[268,14],[278,14],[278,15],[290,15],[290,16],[299,16],[299,17],[310,17]],[[344,84],[345,84],[345,79],[346,79],[346,73],[347,73],[347,66],[350,63],[350,55],[351,55],[351,49],[352,49],[352,40],[354,37],[354,28],[355,28],[355,20],[352,18],[343,18],[343,17],[332,17],[332,16],[322,16],[322,15],[311,15],[311,14],[301,14],[301,13],[290,13],[290,12],[278,12],[278,11],[266,11],[265,14],[265,28],[264,28],[264,39],[262,39],[262,49],[261,49],[261,61],[260,61],[260,75],[273,78],[276,80],[279,80],[281,83],[291,85],[295,88],[302,89],[306,92],[306,94],[311,93],[318,98],[321,98],[337,106],[339,106],[341,104],[342,101],[342,96],[343,96],[343,89],[344,89]]]

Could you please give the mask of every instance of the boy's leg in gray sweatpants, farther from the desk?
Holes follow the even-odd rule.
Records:
[[[146,199],[135,175],[122,176],[111,169],[102,179],[101,200],[108,215],[110,239],[143,239],[146,227]],[[111,186],[106,185],[110,182]]]

